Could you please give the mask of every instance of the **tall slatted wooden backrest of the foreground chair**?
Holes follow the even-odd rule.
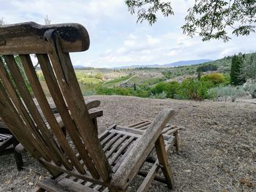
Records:
[[[76,23],[1,26],[0,118],[26,150],[47,167],[76,169],[86,174],[86,166],[95,179],[106,181],[110,165],[89,118],[69,58],[69,52],[88,48],[89,34]],[[50,110],[30,54],[36,55],[68,137]]]

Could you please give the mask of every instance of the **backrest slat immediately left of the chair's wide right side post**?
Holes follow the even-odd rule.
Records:
[[[88,152],[85,149],[82,140],[80,139],[78,129],[76,128],[74,121],[69,115],[69,111],[67,110],[67,106],[62,97],[62,93],[59,88],[53,69],[51,67],[48,55],[37,54],[37,59],[39,61],[42,72],[45,76],[45,81],[48,85],[50,94],[53,98],[53,101],[56,104],[56,107],[59,110],[59,115],[61,116],[61,119],[64,123],[65,128],[67,129],[67,132],[69,133],[70,138],[74,142],[75,147],[78,149],[78,152],[83,158],[83,161],[86,164],[86,167],[89,169],[89,172],[91,172],[91,175],[95,178],[98,178],[99,174],[97,172],[97,169],[91,162],[91,158],[89,157]]]

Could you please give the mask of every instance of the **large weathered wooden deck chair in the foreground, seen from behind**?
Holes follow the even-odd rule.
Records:
[[[37,183],[34,191],[126,191],[139,173],[145,179],[138,191],[147,191],[154,179],[173,188],[166,153],[173,139],[165,140],[161,132],[174,111],[159,112],[143,134],[111,126],[98,135],[69,58],[71,52],[88,49],[89,34],[75,23],[20,23],[0,28],[0,117],[23,147],[53,175]],[[29,54],[37,56],[67,136],[50,110]],[[51,131],[31,97],[16,57]],[[157,159],[148,160],[154,148]],[[145,162],[152,168],[141,173]],[[165,177],[156,176],[159,169]]]

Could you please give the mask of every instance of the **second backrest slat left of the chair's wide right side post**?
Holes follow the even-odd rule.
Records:
[[[33,89],[34,95],[37,98],[40,108],[44,113],[45,118],[50,125],[50,128],[53,130],[56,138],[59,141],[59,144],[61,145],[62,149],[65,151],[66,155],[70,158],[72,164],[76,167],[76,169],[78,169],[78,172],[84,174],[85,171],[83,169],[83,166],[80,164],[77,158],[75,158],[75,153],[72,151],[71,147],[69,146],[69,143],[67,142],[67,139],[63,131],[61,131],[61,128],[59,127],[59,124],[53,115],[53,112],[50,110],[50,105],[48,104],[48,101],[45,97],[45,93],[42,90],[40,82],[37,78],[37,74],[31,62],[30,56],[20,55],[20,60],[21,60],[21,63],[23,64],[23,69],[26,72],[26,76],[28,77],[28,80],[30,82],[31,88]],[[63,164],[65,167],[67,167],[68,169],[72,168],[66,156],[63,153],[61,153],[60,148],[56,149],[56,155],[58,155],[58,157],[61,159],[61,162],[64,162]]]

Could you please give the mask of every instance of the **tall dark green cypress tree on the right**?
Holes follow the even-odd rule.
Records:
[[[241,66],[243,65],[244,55],[234,55],[232,58],[230,82],[232,85],[242,85],[245,80],[241,77]]]

